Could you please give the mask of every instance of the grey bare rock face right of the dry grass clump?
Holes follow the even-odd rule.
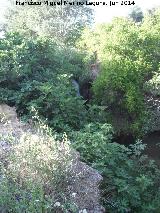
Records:
[[[73,163],[74,178],[69,185],[70,200],[88,213],[101,213],[99,184],[102,176],[93,168],[80,161],[77,153]],[[74,196],[73,196],[74,193]]]

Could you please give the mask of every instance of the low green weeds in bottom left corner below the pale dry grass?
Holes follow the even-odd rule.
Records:
[[[0,209],[2,212],[12,211],[20,212],[51,212],[51,198],[44,198],[42,186],[28,183],[28,186],[23,189],[16,182],[10,182],[8,177],[4,177],[0,183],[2,190],[0,196]],[[31,201],[32,199],[32,201]]]

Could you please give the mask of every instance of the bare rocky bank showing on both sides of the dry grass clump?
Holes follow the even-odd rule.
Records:
[[[16,109],[5,104],[0,105],[0,160],[5,160],[3,154],[12,149],[11,145],[5,141],[5,137],[12,134],[18,141],[26,131],[32,132],[28,124],[23,124],[18,120]],[[96,170],[79,159],[80,156],[76,153],[73,163],[74,176],[68,183],[67,197],[78,206],[79,213],[104,212],[99,203],[100,191],[98,188],[102,177]]]

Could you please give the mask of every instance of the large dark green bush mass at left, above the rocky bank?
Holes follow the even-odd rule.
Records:
[[[1,101],[15,104],[20,115],[35,107],[58,131],[81,128],[86,109],[71,78],[87,76],[83,54],[51,39],[24,39],[17,33],[1,39],[0,48]]]

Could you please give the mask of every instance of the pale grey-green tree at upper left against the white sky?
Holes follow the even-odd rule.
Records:
[[[67,5],[61,6],[48,6],[42,0],[41,6],[19,6],[15,5],[13,0],[10,2],[5,29],[20,31],[26,36],[46,35],[70,43],[74,42],[82,29],[93,21],[93,10],[89,6],[73,6],[69,4],[71,0]]]

